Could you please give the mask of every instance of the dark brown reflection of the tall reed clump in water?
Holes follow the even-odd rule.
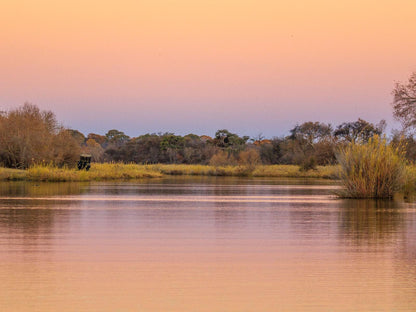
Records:
[[[341,231],[356,245],[384,245],[397,236],[402,219],[398,204],[386,200],[343,200]]]

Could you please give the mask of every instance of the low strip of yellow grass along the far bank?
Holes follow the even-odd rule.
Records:
[[[161,178],[166,175],[192,176],[253,176],[276,178],[336,179],[338,166],[318,166],[316,170],[302,171],[295,165],[259,165],[215,167],[207,165],[137,165],[92,164],[89,171],[53,166],[34,166],[27,170],[0,168],[2,181],[106,181]]]

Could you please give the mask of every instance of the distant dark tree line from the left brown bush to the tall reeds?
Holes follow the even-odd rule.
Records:
[[[119,130],[86,137],[68,130],[81,149],[98,162],[170,163],[170,164],[296,164],[305,168],[334,164],[337,146],[348,142],[367,142],[382,134],[385,122],[372,124],[358,119],[333,128],[321,122],[304,122],[290,135],[265,139],[239,136],[227,129],[215,135],[152,133],[130,138]]]

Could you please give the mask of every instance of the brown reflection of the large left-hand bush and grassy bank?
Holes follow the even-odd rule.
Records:
[[[59,200],[61,196],[79,195],[87,191],[85,186],[80,183],[0,183],[0,234],[7,233],[8,243],[13,250],[31,251],[34,246],[52,244],[51,240],[45,238],[56,230],[57,224],[62,226],[62,222],[68,220],[63,215],[70,213],[69,210],[56,208],[72,203],[43,197],[56,197]],[[36,247],[36,250],[39,248]]]

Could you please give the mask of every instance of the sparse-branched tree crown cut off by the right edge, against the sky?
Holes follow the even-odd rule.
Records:
[[[393,116],[404,130],[416,129],[416,72],[407,83],[396,83],[393,89]]]

